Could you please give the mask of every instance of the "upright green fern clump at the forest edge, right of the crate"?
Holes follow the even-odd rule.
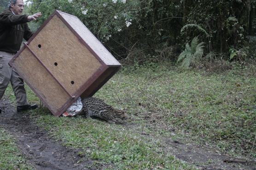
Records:
[[[187,43],[184,51],[180,53],[177,62],[182,61],[182,67],[188,68],[201,60],[204,54],[204,42],[198,44],[198,41],[198,37],[193,38],[191,45]]]

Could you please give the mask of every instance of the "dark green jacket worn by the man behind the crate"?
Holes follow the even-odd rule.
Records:
[[[23,38],[29,40],[33,33],[27,18],[28,15],[14,15],[11,10],[0,13],[0,51],[16,53]]]

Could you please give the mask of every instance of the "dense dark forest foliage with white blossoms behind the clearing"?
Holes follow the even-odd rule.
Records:
[[[0,0],[1,6],[4,1]],[[203,59],[254,57],[256,0],[27,0],[27,4],[30,13],[43,13],[40,24],[55,9],[78,16],[117,59],[176,60],[175,53],[195,37],[205,43]]]

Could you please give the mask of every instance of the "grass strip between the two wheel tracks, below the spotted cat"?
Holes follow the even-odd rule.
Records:
[[[80,148],[79,154],[94,159],[96,165],[109,165],[109,169],[192,169],[161,149],[161,141],[142,137],[121,125],[83,116],[67,118],[49,114],[37,117],[37,123],[64,145]]]

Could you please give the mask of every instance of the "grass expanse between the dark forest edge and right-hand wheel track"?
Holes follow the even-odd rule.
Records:
[[[256,156],[256,77],[247,70],[208,75],[169,65],[125,67],[96,96],[140,124],[159,121],[192,141]],[[157,131],[168,136],[163,129]]]

